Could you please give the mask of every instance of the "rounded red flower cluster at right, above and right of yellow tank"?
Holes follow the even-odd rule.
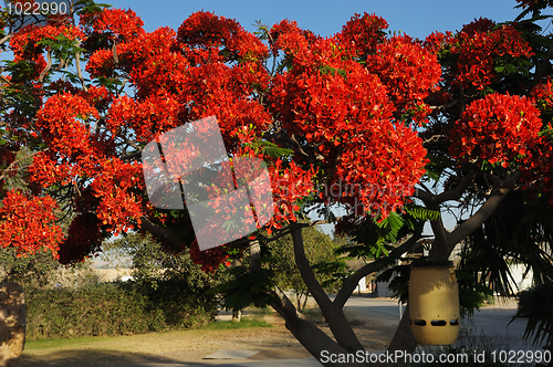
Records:
[[[450,133],[450,154],[465,160],[490,164],[530,154],[542,128],[540,111],[530,98],[489,94],[473,101]]]

